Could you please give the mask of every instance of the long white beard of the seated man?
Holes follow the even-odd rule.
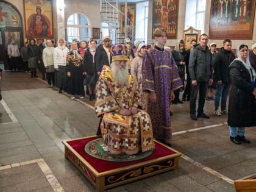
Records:
[[[115,62],[111,63],[112,76],[120,85],[128,85],[128,65],[126,68],[119,68]]]

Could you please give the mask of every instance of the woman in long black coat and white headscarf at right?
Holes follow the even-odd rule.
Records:
[[[256,72],[248,57],[248,46],[241,44],[236,49],[238,58],[230,64],[231,90],[229,97],[230,140],[235,144],[251,143],[244,137],[244,128],[254,124],[254,99],[256,98]],[[237,129],[236,129],[237,128]]]

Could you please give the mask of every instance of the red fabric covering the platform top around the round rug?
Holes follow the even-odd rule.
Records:
[[[161,144],[155,143],[154,151],[152,152],[151,155],[149,155],[146,158],[143,158],[141,160],[135,160],[132,162],[108,162],[98,158],[94,158],[85,152],[84,150],[85,144],[87,144],[89,141],[94,140],[96,138],[99,138],[99,137],[82,138],[80,140],[67,141],[66,143],[68,143],[79,155],[81,155],[99,173],[110,171],[112,169],[121,168],[124,166],[134,165],[134,164],[148,161],[148,160],[153,160],[159,157],[165,157],[167,155],[176,154],[175,151],[172,151],[171,149],[168,149],[165,146],[162,146]]]

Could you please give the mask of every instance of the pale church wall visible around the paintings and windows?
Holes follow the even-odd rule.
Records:
[[[10,4],[15,5],[15,7],[20,11],[21,16],[23,18],[23,26],[25,26],[24,22],[24,5],[23,1],[20,0],[9,0],[7,2],[10,2]],[[55,2],[55,0],[54,0]],[[55,5],[55,4],[53,4]],[[101,26],[101,16],[99,14],[100,5],[99,2],[82,2],[82,1],[71,1],[66,0],[65,1],[65,20],[64,20],[64,26],[66,29],[66,21],[70,15],[72,15],[75,12],[83,13],[85,16],[87,16],[88,20],[90,21],[91,27],[100,27]],[[182,38],[182,32],[184,30],[185,26],[185,10],[186,10],[186,0],[180,0],[179,1],[179,16],[178,16],[178,29],[177,29],[177,39],[175,40],[168,40],[166,45],[168,46],[174,46],[176,44],[176,41]],[[52,7],[53,10],[55,10],[54,6]],[[149,13],[152,12],[152,1],[149,1]],[[256,13],[255,13],[256,15]],[[56,26],[56,20],[57,20],[57,14],[53,14],[54,18],[54,32],[55,32],[55,26]],[[148,18],[148,43],[151,41],[154,41],[151,39],[152,37],[152,14],[149,14]],[[209,32],[209,23],[210,23],[210,4],[207,4],[206,10],[205,10],[205,34],[208,34]],[[25,27],[24,27],[25,28]],[[255,43],[256,41],[256,19],[254,18],[254,33],[252,35],[252,40],[232,40],[233,42],[233,48],[235,48],[238,44],[244,43],[247,44],[249,47],[251,47],[251,44]],[[24,29],[25,34],[25,29]],[[55,36],[56,37],[56,36]],[[58,38],[58,37],[56,37]],[[26,37],[24,37],[24,40],[26,40]],[[223,40],[209,40],[210,42],[215,42],[217,44],[217,47],[222,46]]]

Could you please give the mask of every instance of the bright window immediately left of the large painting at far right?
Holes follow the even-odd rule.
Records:
[[[204,33],[206,0],[187,0],[185,29],[192,26]]]

